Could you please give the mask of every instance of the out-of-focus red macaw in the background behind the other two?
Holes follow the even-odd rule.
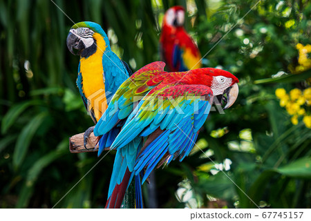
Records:
[[[161,59],[169,71],[186,71],[202,67],[201,55],[185,28],[185,10],[173,6],[165,12],[160,35]]]

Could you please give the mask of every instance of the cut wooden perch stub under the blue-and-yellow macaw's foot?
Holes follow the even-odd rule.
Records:
[[[70,153],[83,153],[83,152],[97,152],[98,148],[95,148],[97,143],[97,137],[94,136],[93,132],[90,137],[88,137],[88,143],[86,144],[86,148],[84,147],[83,142],[84,133],[79,133],[69,137],[69,151]],[[109,148],[105,149],[109,151]]]

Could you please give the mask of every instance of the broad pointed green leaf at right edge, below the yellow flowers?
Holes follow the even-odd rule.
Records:
[[[304,157],[276,169],[278,173],[290,177],[311,178],[311,157]]]

